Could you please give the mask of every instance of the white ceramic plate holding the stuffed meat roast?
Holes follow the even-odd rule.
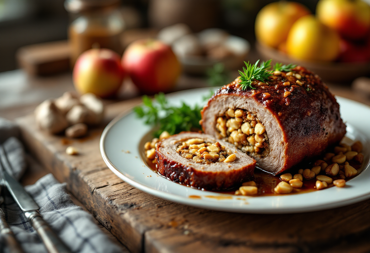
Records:
[[[169,94],[171,104],[204,104],[202,97],[209,88]],[[104,129],[100,151],[108,167],[122,180],[149,194],[199,208],[240,213],[298,213],[350,205],[370,198],[370,107],[337,97],[340,112],[347,124],[346,136],[364,145],[365,169],[347,182],[346,187],[284,196],[233,196],[202,191],[174,183],[158,176],[142,161],[142,138],[151,131],[133,112],[115,118]],[[129,151],[129,152],[127,152]],[[199,196],[193,198],[189,196]]]

